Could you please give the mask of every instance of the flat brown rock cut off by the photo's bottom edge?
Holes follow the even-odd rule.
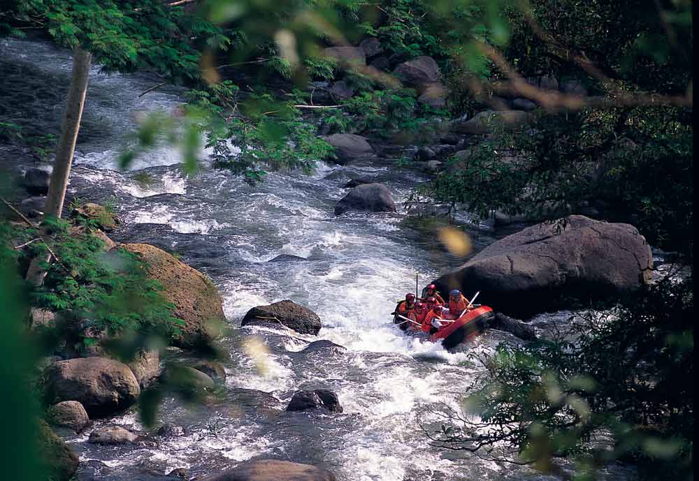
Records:
[[[335,475],[310,464],[276,459],[260,459],[239,464],[221,473],[213,473],[196,481],[336,481]]]

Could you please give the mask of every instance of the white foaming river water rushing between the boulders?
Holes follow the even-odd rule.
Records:
[[[56,133],[70,72],[69,52],[38,42],[0,43],[4,121],[27,122],[35,133]],[[97,447],[89,432],[105,422],[145,433],[136,411],[97,421],[66,441],[80,454],[79,480],[155,480],[187,468],[189,476],[219,471],[248,459],[287,459],[315,464],[340,481],[545,480],[527,468],[429,447],[421,422],[428,408],[456,406],[459,394],[482,371],[475,357],[491,353],[510,334],[491,331],[458,353],[401,334],[390,324],[396,300],[456,262],[436,241],[405,228],[405,214],[348,213],[333,207],[354,177],[384,182],[397,202],[423,182],[415,170],[391,168],[380,157],[363,165],[319,163],[313,175],[278,172],[248,186],[229,172],[213,170],[203,153],[191,177],[174,147],[138,158],[127,171],[116,158],[129,142],[141,112],[173,112],[177,89],[138,94],[157,77],[91,72],[69,199],[114,202],[124,227],[121,242],[148,242],[180,254],[208,274],[224,297],[229,330],[222,399],[188,406],[167,398],[158,424],[178,424],[182,436],[157,445]],[[10,101],[11,99],[11,101]],[[24,163],[22,163],[24,162]],[[29,165],[28,157],[16,165]],[[149,182],[144,184],[147,175]],[[487,225],[470,231],[476,249],[495,239]],[[267,262],[280,254],[308,258]],[[304,304],[322,318],[318,336],[240,329],[247,309],[281,299]],[[537,322],[547,323],[542,316]],[[257,360],[243,349],[251,338],[267,346]],[[304,351],[327,339],[346,351]],[[175,354],[177,355],[177,354]],[[296,390],[327,388],[338,393],[338,415],[285,413]],[[628,479],[615,468],[607,479]]]

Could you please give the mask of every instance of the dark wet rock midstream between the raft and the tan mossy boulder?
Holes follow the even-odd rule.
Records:
[[[247,311],[240,327],[246,325],[266,325],[280,327],[284,325],[301,334],[318,334],[322,327],[318,315],[308,309],[299,306],[289,299],[269,304],[268,306],[256,306]]]

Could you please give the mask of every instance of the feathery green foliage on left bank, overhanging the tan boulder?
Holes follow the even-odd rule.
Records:
[[[134,254],[120,248],[105,252],[103,242],[89,230],[71,232],[63,221],[49,220],[46,225],[57,260],[44,266],[44,283],[31,292],[34,306],[79,320],[83,334],[89,329],[93,334],[136,333],[168,340],[180,333],[182,321],[173,317],[173,304],[162,297],[162,286],[148,279]],[[42,242],[31,246],[34,256],[46,252]],[[90,342],[85,335],[83,341]]]

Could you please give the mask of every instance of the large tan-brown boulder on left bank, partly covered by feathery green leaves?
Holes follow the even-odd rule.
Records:
[[[163,285],[163,295],[175,304],[174,316],[185,321],[177,343],[187,348],[210,343],[226,318],[221,295],[208,277],[149,244],[122,246],[143,259],[148,276]]]

